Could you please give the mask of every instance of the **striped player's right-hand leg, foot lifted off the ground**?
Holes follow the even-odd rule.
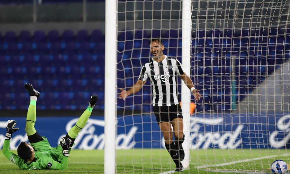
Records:
[[[176,150],[180,160],[184,160],[184,150],[182,143],[184,142],[184,133],[183,133],[183,116],[180,105],[171,106],[170,108],[170,121],[173,126],[174,140]]]

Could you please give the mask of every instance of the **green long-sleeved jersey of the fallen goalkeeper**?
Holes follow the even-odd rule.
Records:
[[[47,139],[34,145],[40,146],[41,144],[48,144]],[[35,148],[32,145],[33,148]],[[23,160],[18,155],[12,153],[9,149],[10,139],[5,139],[3,144],[3,154],[8,160],[12,163],[19,166],[21,169],[32,170],[32,169],[53,169],[53,170],[66,170],[68,168],[68,157],[62,155],[61,146],[56,148],[47,147],[44,149],[35,149],[35,157],[31,163],[28,163],[27,160]]]

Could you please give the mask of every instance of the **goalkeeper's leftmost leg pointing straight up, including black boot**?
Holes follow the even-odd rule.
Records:
[[[24,85],[30,95],[30,104],[28,106],[25,131],[30,143],[37,143],[43,138],[36,132],[34,125],[36,120],[36,101],[40,93],[33,88],[31,84]]]

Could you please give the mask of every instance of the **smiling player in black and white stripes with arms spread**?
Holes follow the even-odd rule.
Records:
[[[142,67],[139,79],[129,90],[120,88],[119,99],[125,100],[129,95],[137,93],[149,78],[152,84],[153,111],[162,131],[165,147],[176,164],[175,171],[183,171],[180,163],[184,160],[183,117],[178,102],[177,75],[190,89],[196,101],[199,101],[202,96],[198,92],[199,90],[194,88],[191,79],[184,73],[184,68],[178,59],[163,54],[162,39],[153,38],[149,41],[149,45],[153,58]]]

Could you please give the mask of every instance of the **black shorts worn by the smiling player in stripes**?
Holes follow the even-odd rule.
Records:
[[[172,106],[153,106],[157,123],[171,122],[175,118],[183,118],[180,104]]]

